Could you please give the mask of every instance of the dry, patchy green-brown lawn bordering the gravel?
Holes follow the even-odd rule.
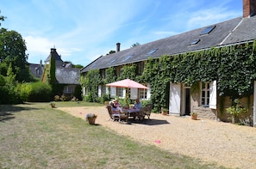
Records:
[[[0,168],[224,168],[142,145],[49,103],[0,105],[0,133]]]

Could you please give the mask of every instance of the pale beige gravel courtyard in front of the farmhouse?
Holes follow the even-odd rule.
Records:
[[[256,167],[256,128],[253,127],[156,113],[151,114],[150,121],[126,124],[109,120],[104,106],[58,109],[78,118],[85,118],[87,113],[95,113],[98,115],[97,124],[130,136],[135,141],[153,144],[172,153],[185,154],[232,168]]]

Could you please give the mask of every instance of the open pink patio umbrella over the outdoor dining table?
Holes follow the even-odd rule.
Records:
[[[107,87],[117,87],[117,88],[144,88],[148,89],[147,87],[143,86],[139,82],[132,81],[130,79],[124,79],[122,81],[111,82],[106,84]],[[128,89],[126,90],[128,93]],[[128,94],[126,94],[126,103],[128,105]]]

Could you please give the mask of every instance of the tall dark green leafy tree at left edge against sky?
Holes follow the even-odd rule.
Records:
[[[12,66],[12,71],[16,75],[16,81],[30,81],[31,76],[28,68],[27,47],[22,35],[16,31],[8,31],[6,28],[0,29],[0,66],[1,73],[7,72],[3,68],[6,65]],[[6,76],[6,75],[4,75]]]

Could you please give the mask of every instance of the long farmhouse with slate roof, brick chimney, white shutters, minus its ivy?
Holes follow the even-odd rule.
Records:
[[[92,63],[80,70],[81,74],[86,75],[89,71],[99,69],[100,75],[104,79],[106,70],[109,68],[116,69],[116,75],[121,75],[121,70],[125,65],[135,64],[137,66],[137,75],[142,75],[150,58],[159,59],[162,56],[181,56],[184,53],[194,51],[207,51],[211,48],[222,49],[225,46],[235,45],[244,46],[253,44],[256,39],[256,2],[254,0],[243,0],[243,16],[228,21],[223,21],[208,27],[201,27],[186,33],[180,33],[165,39],[159,39],[144,45],[138,45],[133,48],[120,51],[120,43],[116,44],[116,53],[98,57]],[[253,57],[256,57],[255,55]],[[170,72],[172,74],[172,72]],[[213,72],[214,74],[214,72]],[[190,115],[190,112],[198,112],[199,118],[221,119],[228,121],[228,115],[220,114],[223,107],[231,106],[230,97],[222,99],[221,91],[217,89],[220,79],[211,79],[211,81],[199,81],[198,89],[192,91],[190,85],[185,82],[169,81],[168,109],[170,115]],[[255,81],[255,79],[254,79]],[[148,89],[133,89],[130,97],[140,98],[140,100],[150,100],[153,88],[156,85],[148,81],[143,82]],[[256,83],[254,82],[254,88]],[[98,96],[110,94],[111,97],[124,98],[125,88],[107,88],[104,83],[98,84]],[[159,84],[160,88],[160,84]],[[84,95],[86,95],[86,86]],[[247,118],[248,125],[256,125],[256,90],[248,98],[240,101],[248,108]],[[154,100],[156,101],[156,100]],[[223,103],[221,103],[223,102]]]

